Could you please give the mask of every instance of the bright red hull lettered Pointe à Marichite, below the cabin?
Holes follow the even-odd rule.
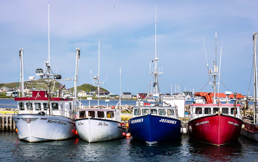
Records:
[[[234,116],[209,115],[188,122],[190,138],[213,145],[224,145],[238,139],[243,121]]]

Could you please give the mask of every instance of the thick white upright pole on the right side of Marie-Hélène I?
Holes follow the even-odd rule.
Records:
[[[79,59],[80,59],[80,48],[76,48],[76,64],[75,64],[75,77],[74,77],[74,89],[73,89],[73,117],[75,118],[76,113],[76,100],[77,100],[77,80],[79,74]]]

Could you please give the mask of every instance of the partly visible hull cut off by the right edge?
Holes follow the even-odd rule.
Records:
[[[245,127],[241,130],[241,135],[258,141],[258,124],[252,124],[244,121]]]

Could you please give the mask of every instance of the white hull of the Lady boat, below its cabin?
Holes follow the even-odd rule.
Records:
[[[87,142],[114,140],[126,133],[121,123],[114,120],[83,118],[75,120],[75,125],[80,138]]]

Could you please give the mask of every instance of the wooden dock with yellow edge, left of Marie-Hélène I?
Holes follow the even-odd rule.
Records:
[[[15,122],[12,119],[13,111],[0,111],[0,131],[13,132],[15,131]]]

